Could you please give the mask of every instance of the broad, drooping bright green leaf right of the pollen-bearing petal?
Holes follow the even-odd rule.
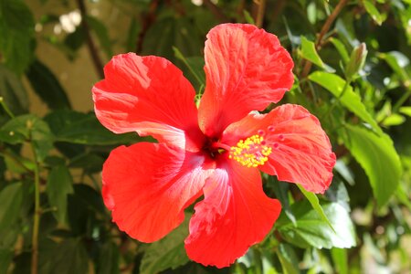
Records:
[[[345,133],[340,135],[345,146],[364,168],[378,205],[385,205],[395,193],[402,173],[393,142],[384,133],[378,136],[351,124],[345,125]]]

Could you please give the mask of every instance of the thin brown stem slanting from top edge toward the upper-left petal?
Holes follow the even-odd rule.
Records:
[[[96,44],[94,44],[93,38],[91,37],[90,26],[87,22],[87,9],[84,4],[84,0],[77,0],[77,5],[79,5],[79,10],[81,14],[81,26],[83,26],[84,33],[86,34],[87,46],[89,47],[89,52],[91,60],[93,61],[94,68],[96,69],[97,75],[100,79],[104,78],[103,64],[101,62],[98,49]]]

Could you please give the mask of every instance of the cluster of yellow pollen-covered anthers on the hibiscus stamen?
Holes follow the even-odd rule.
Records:
[[[228,158],[247,167],[257,167],[269,161],[271,151],[272,149],[265,144],[264,138],[256,134],[232,146]]]

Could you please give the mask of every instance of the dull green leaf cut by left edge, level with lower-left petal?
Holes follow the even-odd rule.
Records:
[[[0,238],[18,219],[23,203],[21,183],[6,184],[0,192]]]

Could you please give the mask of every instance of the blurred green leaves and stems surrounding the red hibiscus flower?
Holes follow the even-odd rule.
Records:
[[[201,93],[205,35],[224,22],[279,37],[296,79],[281,103],[319,117],[338,162],[325,195],[265,175],[279,221],[215,269],[186,257],[187,218],[153,244],[111,223],[102,163],[142,139],[105,130],[90,88],[132,51]],[[409,0],[0,0],[0,273],[409,273],[410,45]]]

